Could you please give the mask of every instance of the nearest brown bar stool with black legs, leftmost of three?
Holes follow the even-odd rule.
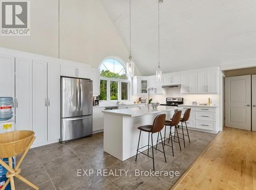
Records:
[[[137,148],[137,154],[136,154],[135,161],[137,161],[138,152],[152,158],[153,159],[153,169],[154,169],[154,171],[155,171],[155,159],[154,159],[154,149],[153,149],[153,133],[158,132],[158,135],[160,133],[160,136],[161,136],[161,139],[162,139],[161,130],[164,127],[165,117],[166,117],[165,114],[160,114],[154,119],[153,125],[143,125],[143,126],[138,127],[138,129],[140,130],[140,134],[141,134],[141,131],[148,132],[148,144],[146,146],[143,146],[143,147],[139,148],[139,144],[140,144],[140,136],[139,136],[139,142],[138,142],[138,148]],[[150,145],[150,133],[151,133],[151,144],[152,145]],[[162,141],[162,146],[163,146],[163,141]],[[148,147],[147,154],[139,151],[140,149],[145,148],[145,147]],[[152,157],[150,155],[148,155],[148,151],[149,151],[150,147],[152,148]],[[163,146],[163,151],[161,151],[157,148],[156,148],[156,150],[158,150],[158,151],[160,151],[164,154],[164,159],[165,159],[165,162],[166,162],[164,146]]]

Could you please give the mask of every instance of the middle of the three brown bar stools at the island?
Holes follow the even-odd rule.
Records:
[[[173,118],[170,119],[170,121],[165,121],[164,125],[165,125],[165,128],[164,128],[164,146],[169,146],[169,147],[172,147],[172,151],[173,151],[173,156],[174,156],[174,147],[173,147],[173,142],[176,142],[176,143],[179,143],[179,146],[180,146],[180,139],[179,139],[179,135],[177,134],[177,137],[178,137],[178,142],[177,141],[174,141],[173,138],[172,138],[172,127],[174,126],[175,129],[174,129],[174,133],[175,133],[175,130],[177,130],[177,125],[179,124],[180,122],[180,119],[181,119],[181,111],[176,111],[173,115]],[[170,126],[170,133],[169,133],[169,138],[166,138],[165,137],[165,133],[166,133],[166,126]],[[178,132],[178,130],[177,130]],[[162,137],[161,137],[162,139]],[[167,145],[165,144],[165,140],[168,139],[168,143],[171,142],[172,145]],[[157,142],[158,142],[158,137],[157,137]],[[156,146],[157,148],[157,146]],[[180,150],[181,150],[181,146],[180,146]]]

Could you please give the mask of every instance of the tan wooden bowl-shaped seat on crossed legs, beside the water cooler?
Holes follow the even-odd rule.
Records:
[[[24,183],[28,184],[34,189],[39,189],[33,183],[19,175],[20,172],[22,172],[19,167],[35,140],[34,134],[34,131],[30,130],[19,130],[0,134],[0,158],[8,158],[9,161],[8,166],[2,159],[0,159],[0,164],[8,170],[6,173],[8,180],[2,189],[5,189],[6,186],[11,183],[11,189],[15,190],[14,177],[22,180]],[[22,153],[22,157],[18,161],[16,167],[13,169],[12,157]]]

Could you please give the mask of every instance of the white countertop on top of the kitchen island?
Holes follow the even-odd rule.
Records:
[[[102,113],[127,116],[127,117],[138,117],[138,116],[143,116],[147,114],[157,114],[162,112],[170,112],[174,110],[178,110],[178,107],[159,105],[156,110],[153,110],[152,108],[148,109],[146,106],[142,108],[133,107],[133,108],[127,108],[127,109],[121,109],[121,110],[104,110],[102,111]]]

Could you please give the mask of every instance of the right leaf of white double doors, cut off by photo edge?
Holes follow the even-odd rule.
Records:
[[[252,125],[251,129],[253,131],[256,131],[256,75],[251,76],[251,104],[252,104],[252,111],[251,111],[251,117],[252,117]]]

